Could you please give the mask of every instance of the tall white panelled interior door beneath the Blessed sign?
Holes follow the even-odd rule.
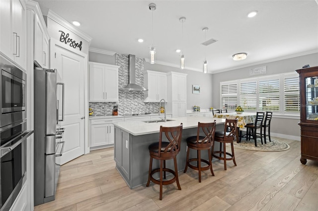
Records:
[[[85,57],[51,44],[51,68],[56,68],[65,84],[65,128],[63,156],[57,163],[64,164],[84,154],[84,65]]]

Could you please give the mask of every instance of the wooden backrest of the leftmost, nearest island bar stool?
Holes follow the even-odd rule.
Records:
[[[182,127],[182,123],[179,126],[175,127],[163,127],[162,125],[160,125],[158,151],[159,157],[164,157],[164,154],[168,154],[167,157],[175,156],[180,152]],[[169,144],[165,148],[161,148],[162,141],[166,141],[162,138],[166,139],[169,142]]]

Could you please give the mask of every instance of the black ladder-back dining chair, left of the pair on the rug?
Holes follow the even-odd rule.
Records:
[[[262,135],[262,129],[263,129],[263,119],[264,119],[264,113],[265,112],[256,112],[256,118],[254,123],[252,124],[246,124],[246,134],[248,136],[248,140],[250,140],[250,137],[254,139],[255,147],[257,147],[256,140],[257,138],[260,138],[261,143],[263,144],[263,135]],[[259,129],[259,132],[257,132],[257,129]],[[247,138],[246,138],[247,140]],[[265,143],[266,144],[266,143]]]

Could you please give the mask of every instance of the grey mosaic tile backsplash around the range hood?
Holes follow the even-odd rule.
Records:
[[[89,102],[93,115],[111,115],[112,109],[118,105],[118,115],[132,113],[159,113],[159,103],[144,103],[144,92],[122,91],[128,83],[128,55],[115,54],[118,70],[119,102]],[[144,59],[136,57],[136,84],[144,86]],[[87,111],[88,112],[88,111]]]

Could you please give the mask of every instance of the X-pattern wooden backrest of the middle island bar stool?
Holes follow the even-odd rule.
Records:
[[[209,123],[198,122],[197,147],[200,147],[200,146],[204,147],[204,145],[205,146],[213,145],[216,124],[217,124],[216,120],[214,120],[214,122],[209,122]],[[200,140],[200,129],[205,134],[205,137],[202,140]]]

